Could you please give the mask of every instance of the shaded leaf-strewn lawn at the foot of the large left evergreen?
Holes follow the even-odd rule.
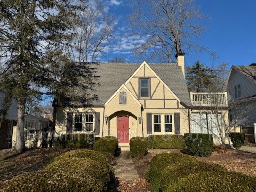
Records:
[[[0,153],[0,189],[4,183],[24,172],[43,169],[53,157],[68,151],[61,148],[43,148],[28,150],[24,153],[13,151]]]

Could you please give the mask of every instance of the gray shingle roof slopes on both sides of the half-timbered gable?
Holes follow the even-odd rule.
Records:
[[[97,81],[99,85],[91,91],[91,94],[98,95],[98,101],[92,104],[103,105],[140,65],[141,63],[98,63],[96,75],[100,76]],[[149,63],[149,66],[183,103],[192,105],[181,67],[176,63]]]

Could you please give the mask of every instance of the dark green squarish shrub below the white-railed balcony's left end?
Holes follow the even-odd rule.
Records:
[[[197,139],[196,135],[198,136]],[[211,156],[213,149],[212,134],[185,133],[184,136],[188,136],[188,139],[186,140],[186,146],[189,150],[189,153],[191,153],[193,156]]]

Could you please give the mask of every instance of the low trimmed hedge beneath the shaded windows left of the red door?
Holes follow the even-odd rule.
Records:
[[[96,137],[91,133],[67,133],[53,140],[54,147],[91,148]]]

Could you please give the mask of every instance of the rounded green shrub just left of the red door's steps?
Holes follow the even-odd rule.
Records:
[[[102,137],[94,143],[93,149],[102,153],[110,153],[115,156],[118,150],[118,139],[114,136]]]

